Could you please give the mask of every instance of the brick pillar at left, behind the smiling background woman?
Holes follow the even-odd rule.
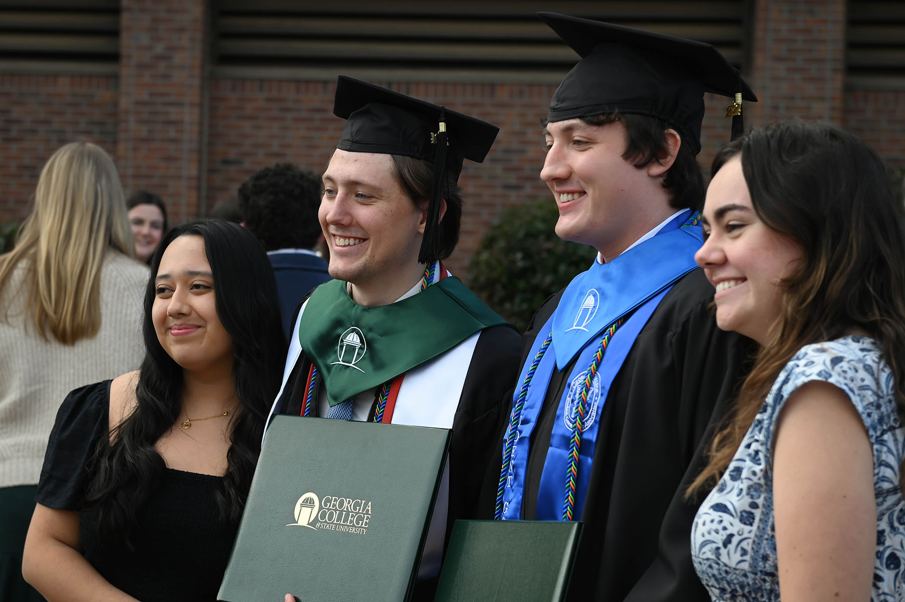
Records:
[[[206,2],[122,0],[117,157],[126,194],[163,197],[174,221],[202,195]]]

